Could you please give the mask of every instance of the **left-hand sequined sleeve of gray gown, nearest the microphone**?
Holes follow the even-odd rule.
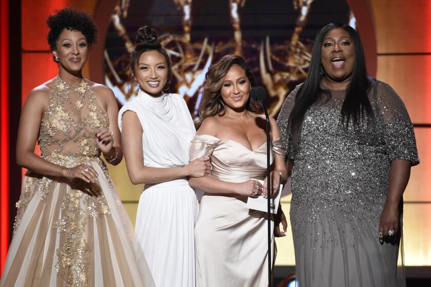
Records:
[[[293,109],[293,105],[295,105],[296,94],[301,86],[302,84],[296,86],[296,88],[286,97],[277,118],[277,125],[285,148],[286,159],[295,159],[295,155],[291,147],[292,141],[290,138],[289,116]]]

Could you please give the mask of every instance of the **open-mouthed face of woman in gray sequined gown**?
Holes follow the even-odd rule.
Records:
[[[336,28],[323,38],[321,62],[326,80],[342,82],[348,80],[355,65],[355,47],[350,34]]]

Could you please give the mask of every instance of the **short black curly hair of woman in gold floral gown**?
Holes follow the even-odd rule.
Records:
[[[64,8],[55,11],[54,15],[49,15],[46,20],[49,27],[48,45],[51,51],[54,51],[58,38],[64,29],[71,31],[80,31],[87,38],[88,47],[91,48],[97,41],[97,27],[94,24],[93,17],[86,12],[74,8]]]

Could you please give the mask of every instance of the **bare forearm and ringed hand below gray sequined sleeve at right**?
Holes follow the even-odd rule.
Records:
[[[400,201],[410,178],[409,160],[396,159],[390,163],[389,186],[386,194],[386,203],[380,215],[379,233],[387,236],[389,230],[398,233],[400,220]],[[383,238],[380,237],[383,242]]]

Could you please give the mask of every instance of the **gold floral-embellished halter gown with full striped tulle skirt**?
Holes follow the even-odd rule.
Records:
[[[96,145],[102,127],[108,117],[85,79],[70,87],[57,77],[42,117],[41,155],[68,168],[89,165],[99,181],[27,172],[0,286],[154,285]]]

